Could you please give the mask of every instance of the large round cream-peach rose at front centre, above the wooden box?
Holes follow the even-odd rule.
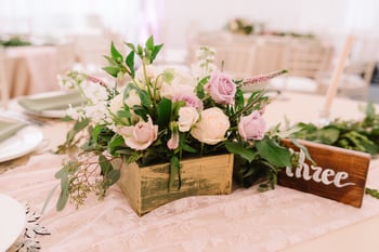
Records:
[[[200,121],[191,130],[191,135],[201,143],[214,145],[225,140],[225,133],[231,127],[226,115],[218,107],[201,111]]]

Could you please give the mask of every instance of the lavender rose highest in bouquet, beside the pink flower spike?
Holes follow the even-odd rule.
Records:
[[[237,87],[230,76],[221,71],[214,71],[204,88],[214,102],[219,104],[234,104]]]

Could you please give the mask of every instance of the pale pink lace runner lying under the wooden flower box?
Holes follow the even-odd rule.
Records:
[[[34,156],[0,175],[0,193],[42,209],[58,184],[64,157]],[[368,187],[379,187],[379,160],[370,164]],[[278,251],[379,214],[379,201],[365,196],[362,209],[277,186],[257,193],[236,188],[227,196],[188,197],[139,217],[118,186],[104,201],[90,198],[76,210],[56,212],[57,191],[40,224],[41,251],[223,252]]]

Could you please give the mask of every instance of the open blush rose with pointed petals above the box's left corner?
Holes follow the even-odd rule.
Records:
[[[152,118],[147,122],[139,121],[132,127],[122,127],[118,133],[123,137],[125,144],[136,150],[146,149],[157,140],[158,125],[154,125]]]

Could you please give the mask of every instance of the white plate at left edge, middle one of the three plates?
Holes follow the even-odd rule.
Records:
[[[43,132],[41,129],[35,125],[24,127],[13,136],[0,142],[0,162],[9,161],[34,151],[42,141]]]

